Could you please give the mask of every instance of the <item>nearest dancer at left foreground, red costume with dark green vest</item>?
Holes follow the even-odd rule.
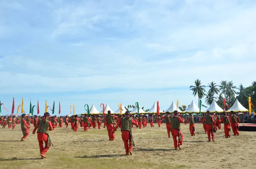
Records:
[[[49,138],[49,131],[53,130],[53,128],[51,121],[49,121],[49,115],[50,114],[48,112],[44,113],[43,118],[38,121],[38,124],[35,126],[35,129],[32,132],[33,134],[35,134],[36,130],[38,130],[38,143],[40,149],[40,156],[42,159],[46,158],[45,153],[52,145]]]

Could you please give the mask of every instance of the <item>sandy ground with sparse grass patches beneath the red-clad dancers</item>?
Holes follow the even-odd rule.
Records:
[[[115,141],[108,141],[107,130],[90,129],[78,132],[56,128],[50,132],[54,146],[41,160],[37,135],[20,142],[20,125],[15,130],[0,128],[0,168],[255,168],[256,132],[240,132],[239,136],[224,137],[223,124],[215,133],[215,142],[208,142],[202,124],[195,124],[196,135],[190,136],[189,124],[181,124],[184,135],[181,150],[174,150],[166,125],[133,128],[133,155],[124,156],[120,129]],[[65,126],[64,126],[65,127]]]

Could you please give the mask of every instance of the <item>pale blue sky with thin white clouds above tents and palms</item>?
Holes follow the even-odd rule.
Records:
[[[0,101],[197,104],[195,79],[255,80],[255,18],[254,0],[1,0]]]

